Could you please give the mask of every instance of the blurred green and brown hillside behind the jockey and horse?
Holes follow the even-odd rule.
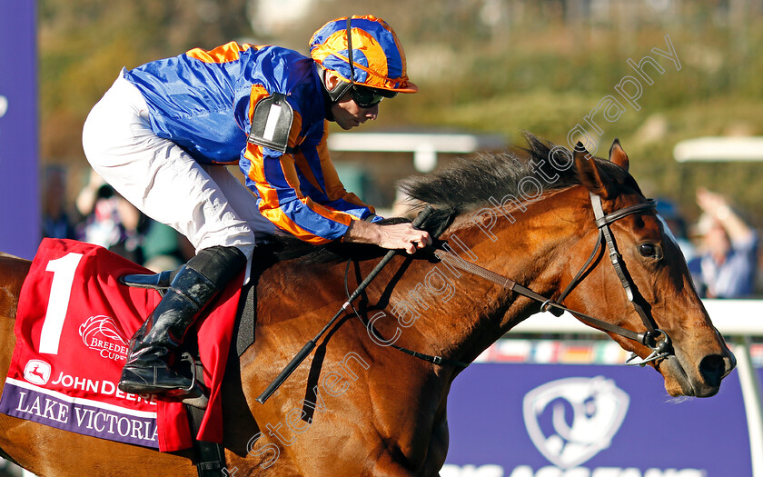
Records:
[[[674,196],[687,214],[699,212],[696,184],[743,207],[763,199],[757,164],[694,167],[679,184],[672,154],[687,138],[763,132],[763,2],[745,0],[40,0],[41,164],[70,167],[73,188],[84,184],[82,124],[122,66],[233,39],[306,54],[329,19],[368,13],[395,29],[421,92],[384,103],[362,132],[447,126],[513,142],[528,130],[566,144],[570,129],[634,75],[626,61],[651,55],[666,73],[644,84],[640,111],[626,105],[606,124],[599,154],[619,137],[645,193]],[[665,35],[680,71],[650,53],[667,50]]]

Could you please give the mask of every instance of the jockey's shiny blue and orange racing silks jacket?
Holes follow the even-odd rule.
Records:
[[[321,79],[311,58],[279,46],[231,42],[139,66],[124,77],[144,95],[154,133],[200,164],[239,164],[260,212],[310,243],[342,237],[373,213],[339,180],[326,146]],[[247,143],[254,105],[287,95],[294,118],[282,154]]]

